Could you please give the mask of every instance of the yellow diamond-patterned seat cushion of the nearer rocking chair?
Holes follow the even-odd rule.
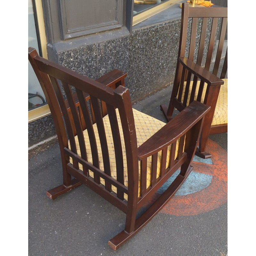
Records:
[[[156,133],[160,128],[162,128],[165,123],[157,120],[156,118],[152,116],[148,116],[136,109],[133,110],[133,116],[134,116],[134,122],[135,122],[135,129],[136,129],[136,135],[137,135],[137,142],[138,147],[148,140],[154,133]],[[124,145],[124,135],[121,125],[121,120],[119,116],[118,109],[116,109],[116,116],[118,120],[118,126],[120,131],[120,138],[122,143],[122,149],[123,149],[123,159],[124,159],[124,185],[128,187],[128,177],[127,177],[127,163],[126,163],[126,154],[125,154],[125,145]],[[108,115],[103,117],[103,123],[105,127],[106,132],[106,139],[108,143],[108,154],[109,154],[109,162],[110,162],[110,169],[111,169],[111,177],[116,179],[116,158],[115,158],[115,150],[114,150],[114,143],[113,143],[113,137],[111,132],[111,126],[109,122]],[[104,171],[104,165],[103,165],[103,157],[100,147],[100,138],[99,133],[97,129],[97,124],[93,124],[93,130],[95,133],[95,139],[98,147],[98,155],[99,155],[99,164],[100,164],[100,170]],[[78,138],[75,137],[76,140],[76,148],[77,148],[77,154],[81,156]],[[89,136],[87,130],[84,130],[84,140],[85,140],[85,147],[87,151],[87,161],[92,164],[92,152],[91,152],[91,146],[89,141]],[[68,142],[69,144],[69,142]],[[69,145],[70,146],[70,145]],[[176,153],[175,153],[175,159],[178,156],[178,148],[179,148],[179,140],[177,141],[176,145]],[[167,150],[167,161],[166,161],[166,168],[169,165],[169,158],[170,158],[170,150],[171,146],[168,147]],[[161,168],[161,155],[162,152],[158,152],[158,160],[157,160],[157,175],[156,178],[160,176],[160,168]],[[72,158],[70,157],[70,163],[72,163]],[[139,170],[140,170],[140,163],[139,164]],[[79,169],[83,170],[82,164],[79,164]],[[89,171],[89,175],[93,178],[93,172]],[[140,181],[140,171],[139,171],[139,181]],[[151,157],[148,157],[147,159],[147,188],[150,186],[151,182]],[[105,181],[100,178],[100,183],[105,185]],[[112,191],[115,193],[117,192],[117,189],[115,186],[111,186]],[[139,182],[139,191],[138,196],[140,196],[140,182]],[[127,194],[124,194],[124,199],[127,200]]]

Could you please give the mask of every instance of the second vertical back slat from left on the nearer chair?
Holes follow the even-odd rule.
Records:
[[[85,147],[85,143],[84,143],[84,133],[83,133],[82,125],[80,122],[80,118],[77,113],[76,104],[72,97],[72,92],[71,92],[70,86],[63,81],[62,81],[62,86],[66,93],[68,104],[69,104],[69,107],[70,107],[70,110],[71,110],[71,113],[73,116],[74,124],[76,127],[76,133],[77,133],[77,137],[78,137],[78,143],[79,143],[81,157],[85,161],[87,161],[86,147]],[[83,165],[83,172],[84,172],[84,174],[89,176],[88,168],[86,168],[84,165]]]

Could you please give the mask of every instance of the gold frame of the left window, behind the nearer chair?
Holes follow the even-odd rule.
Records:
[[[43,14],[43,7],[42,7],[42,1],[41,0],[35,0],[36,4],[36,16],[37,16],[37,22],[38,22],[38,29],[39,29],[39,36],[40,36],[40,42],[41,43],[41,49],[42,49],[42,55],[45,59],[48,59],[47,57],[47,50],[46,50],[46,35],[45,35],[45,27],[44,27],[44,14]],[[48,116],[51,114],[50,108],[48,104],[38,107],[32,110],[28,111],[28,123],[35,121],[41,117]]]

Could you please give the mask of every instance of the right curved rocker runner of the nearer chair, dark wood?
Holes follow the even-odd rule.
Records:
[[[127,233],[125,230],[121,231],[115,237],[108,241],[108,245],[113,249],[117,250],[121,245],[127,242],[132,236],[140,231],[163,207],[167,202],[174,196],[180,186],[188,177],[192,170],[192,166],[188,168],[186,176],[178,175],[172,184],[167,188],[164,193],[157,199],[157,201],[148,208],[137,220],[135,220],[135,227],[131,233]],[[136,206],[135,206],[136,207]]]

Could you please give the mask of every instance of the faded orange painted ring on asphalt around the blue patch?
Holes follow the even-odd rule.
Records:
[[[212,154],[213,164],[193,162],[194,172],[212,175],[207,188],[186,196],[173,196],[161,210],[176,216],[197,215],[209,212],[228,201],[228,153],[216,142],[208,140],[207,152]]]

